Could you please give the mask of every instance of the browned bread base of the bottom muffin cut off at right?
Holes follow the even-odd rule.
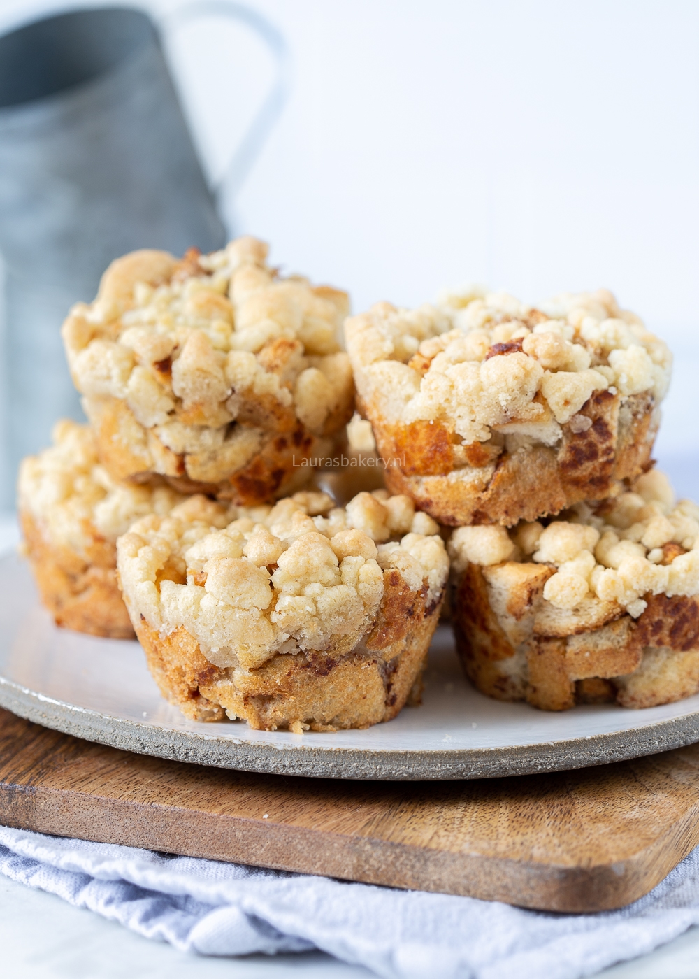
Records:
[[[566,634],[535,634],[515,645],[490,606],[482,569],[469,565],[452,595],[456,650],[476,689],[495,700],[526,700],[544,711],[674,703],[699,692],[699,597],[646,600],[637,620],[621,607],[609,609],[597,628],[581,622]],[[517,618],[516,602],[509,608]]]

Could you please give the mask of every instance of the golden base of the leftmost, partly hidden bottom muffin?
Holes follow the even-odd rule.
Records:
[[[26,556],[41,601],[57,626],[132,639],[133,628],[116,581],[116,548],[95,531],[91,561],[46,541],[28,513],[20,512]]]

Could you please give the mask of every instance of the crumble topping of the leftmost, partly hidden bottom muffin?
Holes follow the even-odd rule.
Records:
[[[99,464],[86,425],[63,420],[54,444],[23,459],[20,509],[58,546],[82,553],[101,536],[112,543],[149,513],[163,515],[184,498],[168,487],[116,483]]]

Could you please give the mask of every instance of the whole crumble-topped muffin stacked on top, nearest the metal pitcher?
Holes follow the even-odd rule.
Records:
[[[338,337],[346,293],[281,278],[267,246],[116,259],[63,337],[100,457],[117,480],[157,473],[242,504],[298,488],[349,420]]]

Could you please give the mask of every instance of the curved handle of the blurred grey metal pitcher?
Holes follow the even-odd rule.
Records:
[[[161,23],[165,29],[170,29],[179,23],[197,17],[215,17],[216,15],[230,17],[235,21],[245,23],[254,30],[274,56],[277,69],[276,77],[256,113],[256,117],[248,126],[233,159],[224,169],[223,176],[212,187],[216,198],[220,198],[224,187],[229,190],[232,196],[238,193],[272,126],[281,115],[289,95],[290,57],[289,48],[281,31],[255,10],[245,7],[243,4],[234,3],[233,0],[193,0],[191,3],[186,3],[170,11],[161,19]]]

